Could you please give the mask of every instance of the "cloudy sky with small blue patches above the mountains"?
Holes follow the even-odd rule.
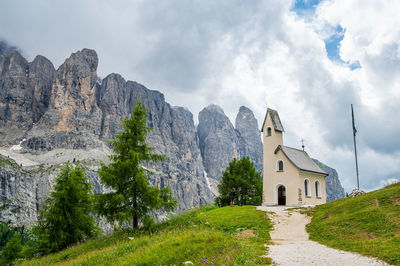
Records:
[[[356,186],[350,104],[366,190],[400,178],[400,1],[3,0],[0,38],[57,68],[93,48],[122,74],[187,107],[220,105],[259,123],[277,109],[284,144]]]

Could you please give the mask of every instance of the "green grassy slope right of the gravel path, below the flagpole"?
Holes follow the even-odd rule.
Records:
[[[312,240],[400,265],[400,183],[317,206]]]

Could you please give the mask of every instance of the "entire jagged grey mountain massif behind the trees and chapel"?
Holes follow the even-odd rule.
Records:
[[[153,185],[172,189],[178,211],[212,203],[233,158],[249,156],[261,170],[260,132],[246,107],[234,128],[220,107],[208,106],[196,130],[192,113],[171,106],[162,93],[118,74],[99,81],[93,50],[73,53],[57,71],[43,56],[29,63],[15,50],[1,53],[0,154],[6,157],[0,158],[0,220],[34,222],[66,161],[79,161],[95,192],[102,193],[96,170],[110,155],[107,141],[138,100],[153,128],[148,144],[167,155],[162,163],[144,166],[155,172],[149,177]]]

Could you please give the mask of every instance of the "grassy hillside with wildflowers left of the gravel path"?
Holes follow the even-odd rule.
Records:
[[[152,233],[116,232],[23,265],[254,265],[270,259],[272,229],[254,207],[204,207],[155,225]],[[132,239],[133,237],[133,239]],[[211,263],[212,262],[212,263]]]

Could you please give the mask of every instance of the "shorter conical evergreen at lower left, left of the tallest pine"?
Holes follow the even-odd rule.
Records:
[[[92,237],[98,230],[90,215],[91,184],[84,170],[67,163],[55,182],[54,191],[39,212],[38,224],[33,227],[41,254],[64,249]]]

